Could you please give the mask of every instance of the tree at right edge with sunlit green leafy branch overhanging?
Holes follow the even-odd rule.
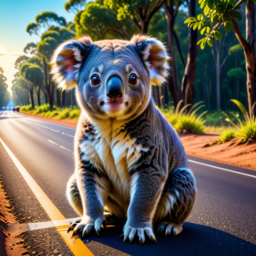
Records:
[[[250,117],[252,113],[256,115],[256,107],[252,110],[253,104],[256,102],[255,0],[199,0],[199,3],[201,9],[204,10],[204,15],[199,14],[197,18],[188,18],[186,23],[193,29],[198,28],[200,33],[204,35],[198,41],[201,49],[204,49],[206,43],[212,47],[213,39],[219,40],[222,38],[219,31],[222,26],[224,26],[227,33],[231,29],[235,32],[235,36],[243,47],[246,60],[249,115]],[[243,37],[237,23],[242,19],[238,9],[243,3],[246,3],[246,37]]]

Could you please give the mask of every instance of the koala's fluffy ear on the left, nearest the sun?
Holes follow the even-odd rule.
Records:
[[[76,78],[82,61],[88,55],[92,46],[90,37],[69,40],[55,50],[52,57],[52,80],[57,86],[69,90],[76,86]]]

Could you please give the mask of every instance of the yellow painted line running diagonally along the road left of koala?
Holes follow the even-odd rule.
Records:
[[[31,191],[34,193],[34,196],[37,198],[37,200],[39,201],[39,203],[41,204],[42,208],[47,213],[47,215],[49,216],[51,221],[55,222],[57,220],[65,220],[65,223],[64,223],[65,229],[59,229],[59,230],[57,229],[57,231],[62,236],[63,240],[65,241],[67,246],[70,248],[72,253],[75,256],[93,256],[91,251],[89,251],[89,249],[85,246],[85,244],[79,238],[78,239],[71,238],[71,234],[67,233],[67,228],[70,225],[68,220],[63,216],[63,214],[52,203],[52,201],[44,193],[42,188],[39,187],[39,185],[36,183],[36,181],[31,177],[29,172],[24,168],[24,166],[21,164],[21,162],[19,162],[17,157],[13,154],[13,152],[10,151],[8,146],[3,142],[2,138],[0,138],[0,143],[3,145],[5,151],[9,155],[10,159],[13,161],[14,165],[16,166],[16,168],[20,172],[21,176],[26,181],[26,183],[29,186],[29,188],[31,189]]]

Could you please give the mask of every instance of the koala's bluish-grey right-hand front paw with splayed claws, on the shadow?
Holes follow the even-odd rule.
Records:
[[[157,241],[155,238],[154,232],[152,230],[152,226],[149,222],[141,222],[136,225],[133,225],[133,224],[130,224],[129,222],[127,222],[125,224],[125,226],[123,227],[123,236],[124,236],[123,241],[125,242],[126,239],[129,239],[130,243],[131,243],[137,233],[140,243],[143,244],[145,242],[145,233],[144,232],[154,242]]]

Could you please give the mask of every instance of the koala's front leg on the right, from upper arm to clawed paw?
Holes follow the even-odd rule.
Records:
[[[155,240],[152,231],[152,221],[159,198],[161,196],[166,174],[158,165],[159,149],[152,149],[149,159],[141,156],[142,162],[133,170],[131,176],[131,201],[128,207],[127,222],[124,227],[124,239],[133,240],[138,232],[141,243],[144,243],[145,234]]]

